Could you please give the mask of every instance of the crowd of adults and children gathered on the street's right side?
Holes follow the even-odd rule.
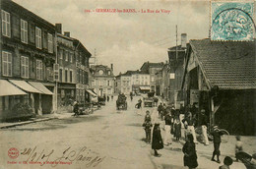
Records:
[[[160,120],[164,120],[165,122],[163,141],[160,135],[160,123],[157,122],[155,124],[152,124],[152,118],[149,110],[146,111],[146,116],[143,123],[143,127],[146,132],[146,142],[151,143],[151,136],[153,136],[152,149],[154,150],[154,155],[159,157],[160,154],[158,153],[158,150],[163,148],[163,146],[168,146],[169,144],[171,144],[171,134],[173,135],[176,141],[179,141],[179,139],[181,138],[181,123],[183,123],[184,136],[186,141],[182,147],[182,152],[184,153],[184,166],[187,166],[188,168],[196,168],[198,166],[196,153],[196,144],[198,143],[198,141],[195,133],[196,124],[200,126],[202,129],[203,143],[205,145],[209,145],[209,140],[207,136],[208,118],[205,114],[205,109],[202,109],[197,117],[196,115],[193,115],[190,111],[187,111],[182,121],[180,121],[181,112],[175,110],[174,105],[172,105],[170,108],[166,106],[164,103],[160,103],[158,111]],[[153,126],[153,134],[151,135]],[[221,163],[220,145],[222,142],[221,137],[224,135],[224,131],[220,130],[218,126],[214,126],[212,128],[211,135],[213,136],[214,143],[212,161]],[[237,142],[235,144],[235,153],[242,151],[242,142],[240,141],[240,137],[236,137],[236,140]],[[232,161],[233,160],[229,156],[226,156],[224,158],[224,165],[220,166],[220,169],[229,168],[229,166],[232,164]]]

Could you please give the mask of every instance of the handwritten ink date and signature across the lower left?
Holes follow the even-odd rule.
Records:
[[[71,146],[65,148],[61,153],[56,152],[55,149],[45,151],[38,150],[37,146],[26,147],[21,150],[21,158],[25,160],[19,164],[37,164],[37,165],[51,165],[56,167],[59,164],[71,165],[73,163],[83,162],[86,167],[96,167],[101,163],[105,156],[100,156],[98,153],[83,146],[79,149],[73,149]],[[16,161],[8,161],[8,164],[16,164]]]

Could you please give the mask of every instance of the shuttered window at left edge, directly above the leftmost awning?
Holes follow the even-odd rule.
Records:
[[[3,76],[12,76],[12,54],[9,52],[2,52],[2,71]]]

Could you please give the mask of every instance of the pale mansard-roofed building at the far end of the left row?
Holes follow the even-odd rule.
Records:
[[[91,66],[92,70],[92,88],[96,91],[98,96],[107,96],[114,93],[114,75],[113,65],[108,68],[104,65]]]

